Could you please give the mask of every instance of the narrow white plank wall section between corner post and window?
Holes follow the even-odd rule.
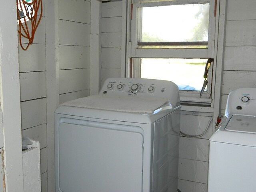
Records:
[[[122,1],[102,4],[101,84],[121,76]]]

